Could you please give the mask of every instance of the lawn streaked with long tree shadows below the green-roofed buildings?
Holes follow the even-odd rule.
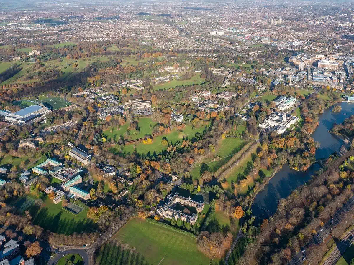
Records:
[[[79,214],[74,215],[65,210],[61,202],[54,204],[48,197],[40,207],[32,205],[29,211],[33,216],[34,224],[58,234],[70,235],[85,231],[86,228],[96,227],[92,220],[87,218],[87,209],[84,208]]]

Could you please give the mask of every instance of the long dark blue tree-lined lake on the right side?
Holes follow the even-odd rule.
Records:
[[[327,158],[334,152],[339,152],[343,144],[343,137],[330,134],[328,130],[334,123],[342,123],[344,119],[354,114],[354,104],[341,102],[341,112],[332,112],[332,107],[319,114],[319,125],[311,135],[321,146],[316,150],[316,159]],[[308,170],[299,172],[293,170],[286,163],[269,181],[268,185],[259,192],[252,206],[252,214],[259,220],[272,216],[278,207],[278,201],[286,198],[300,185],[306,183],[311,175],[320,168],[318,163],[310,166]]]

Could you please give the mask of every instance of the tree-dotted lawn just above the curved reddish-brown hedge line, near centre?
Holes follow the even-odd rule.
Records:
[[[140,139],[145,135],[152,134],[152,128],[156,123],[151,120],[149,117],[143,117],[138,120],[138,128],[140,128],[140,132],[137,135],[132,135],[129,139]],[[116,127],[111,127],[107,130],[103,131],[104,135],[107,135],[107,140],[118,141],[120,135],[124,135],[128,129],[129,124],[124,124],[118,130]],[[112,133],[110,130],[112,129]]]

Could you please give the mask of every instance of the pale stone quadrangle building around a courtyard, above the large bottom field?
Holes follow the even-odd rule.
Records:
[[[194,201],[190,196],[187,198],[180,196],[179,193],[170,193],[167,196],[167,200],[166,204],[158,207],[156,214],[159,214],[162,218],[175,218],[176,220],[180,218],[182,221],[191,223],[192,225],[197,221],[198,215],[196,213],[185,213],[182,210],[178,210],[178,205],[195,208],[198,213],[202,212],[205,206],[204,202]]]

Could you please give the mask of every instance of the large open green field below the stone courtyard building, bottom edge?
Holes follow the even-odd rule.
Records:
[[[196,247],[195,239],[162,226],[133,218],[113,237],[129,244],[149,263],[165,265],[209,264],[209,258]]]

